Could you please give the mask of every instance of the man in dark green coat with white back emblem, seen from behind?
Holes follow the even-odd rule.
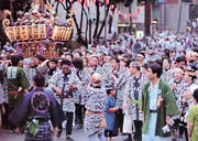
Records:
[[[20,62],[20,56],[11,56],[12,66],[9,66],[4,72],[9,93],[9,113],[11,113],[23,99],[23,95],[28,93],[30,86],[23,68],[19,66],[19,64],[21,64]],[[10,129],[14,130],[14,128],[15,127],[10,123]]]

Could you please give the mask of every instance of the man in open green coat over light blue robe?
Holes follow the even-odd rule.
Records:
[[[142,140],[169,141],[172,132],[163,131],[163,127],[173,126],[172,116],[178,113],[176,100],[170,87],[161,79],[162,67],[152,63],[147,70],[150,82],[142,91]]]

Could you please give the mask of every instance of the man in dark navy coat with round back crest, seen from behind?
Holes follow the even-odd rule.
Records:
[[[25,141],[52,141],[64,119],[63,111],[53,95],[44,90],[45,77],[42,74],[33,78],[33,86],[34,90],[24,96],[9,120],[15,126],[25,124]]]

